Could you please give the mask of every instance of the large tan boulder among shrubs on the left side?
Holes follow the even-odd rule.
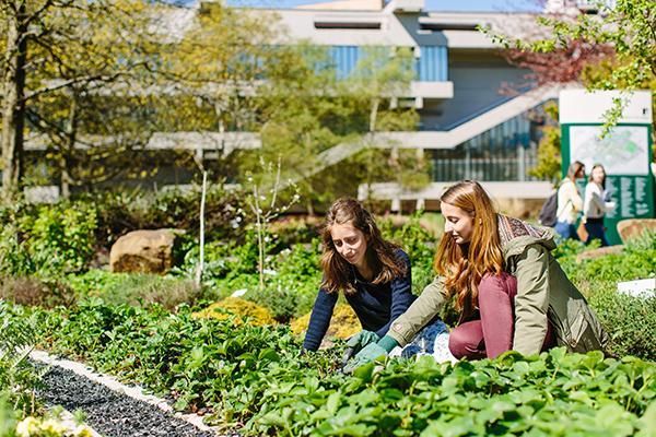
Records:
[[[109,252],[113,272],[166,273],[173,267],[173,246],[180,231],[133,231],[120,237]]]

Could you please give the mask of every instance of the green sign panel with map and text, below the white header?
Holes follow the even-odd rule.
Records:
[[[600,123],[561,123],[562,172],[581,161],[589,175],[593,165],[604,165],[606,190],[614,210],[605,217],[606,235],[611,245],[621,244],[617,223],[624,218],[654,217],[654,176],[652,174],[652,127],[644,123],[618,123],[601,138]],[[583,193],[587,180],[579,181]]]

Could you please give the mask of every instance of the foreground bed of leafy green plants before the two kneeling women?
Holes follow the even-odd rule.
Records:
[[[178,409],[207,408],[245,436],[630,436],[654,414],[656,367],[633,357],[555,349],[455,365],[394,359],[347,376],[335,371],[339,349],[298,355],[286,328],[198,320],[186,307],[60,311],[37,315],[54,351],[169,392]]]

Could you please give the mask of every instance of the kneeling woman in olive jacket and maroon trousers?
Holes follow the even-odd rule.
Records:
[[[497,214],[477,181],[456,184],[441,201],[437,279],[351,368],[410,342],[452,298],[460,310],[449,335],[457,358],[493,358],[509,350],[529,355],[554,345],[602,349],[607,334],[551,255],[551,228]]]

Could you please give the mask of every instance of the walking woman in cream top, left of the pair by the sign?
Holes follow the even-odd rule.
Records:
[[[563,238],[579,239],[575,224],[583,211],[583,199],[576,188],[576,179],[582,177],[585,177],[585,165],[581,161],[574,161],[558,188],[558,210],[553,227]]]

